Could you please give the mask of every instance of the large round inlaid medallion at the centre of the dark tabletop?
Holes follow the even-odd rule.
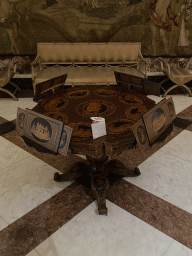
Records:
[[[98,116],[106,117],[116,111],[114,104],[103,100],[90,100],[80,103],[76,107],[76,112],[84,117]]]

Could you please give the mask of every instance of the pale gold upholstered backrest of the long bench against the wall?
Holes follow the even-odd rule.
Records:
[[[40,63],[138,62],[141,43],[38,43]]]

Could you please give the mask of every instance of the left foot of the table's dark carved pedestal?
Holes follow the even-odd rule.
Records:
[[[61,182],[61,181],[66,181],[66,180],[75,180],[80,177],[82,177],[85,173],[89,172],[89,165],[85,164],[83,162],[77,162],[75,163],[71,170],[67,173],[59,174],[56,172],[54,174],[54,180]]]

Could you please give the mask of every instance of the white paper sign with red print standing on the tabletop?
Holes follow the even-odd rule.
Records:
[[[91,120],[92,120],[91,129],[92,129],[93,139],[97,139],[107,134],[105,118],[91,117]]]

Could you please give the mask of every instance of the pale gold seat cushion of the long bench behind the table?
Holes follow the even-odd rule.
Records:
[[[145,77],[138,69],[129,67],[51,67],[41,70],[35,77],[34,82],[37,84],[56,76],[67,74],[66,85],[89,83],[116,84],[114,71]]]

